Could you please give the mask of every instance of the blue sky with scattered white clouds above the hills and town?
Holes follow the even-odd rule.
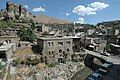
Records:
[[[21,4],[29,12],[40,15],[96,24],[120,19],[120,0],[0,0],[0,9],[11,1]]]

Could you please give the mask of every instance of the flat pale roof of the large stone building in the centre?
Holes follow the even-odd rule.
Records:
[[[57,40],[57,39],[74,39],[74,38],[79,38],[77,36],[63,36],[63,37],[39,37],[39,39],[43,40]]]

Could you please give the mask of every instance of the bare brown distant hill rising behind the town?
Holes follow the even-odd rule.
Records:
[[[46,16],[46,15],[43,15],[43,14],[41,14],[39,16],[36,16],[32,19],[37,21],[38,23],[45,23],[45,24],[54,24],[54,23],[56,23],[56,24],[67,24],[67,23],[71,23],[68,20],[57,19],[57,18],[49,17],[49,16]]]

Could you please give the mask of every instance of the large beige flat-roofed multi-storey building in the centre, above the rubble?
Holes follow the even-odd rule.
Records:
[[[46,63],[64,62],[71,60],[76,37],[39,37],[37,44],[42,49],[42,55]],[[78,37],[77,37],[78,38]],[[76,44],[75,44],[76,45]],[[74,47],[76,50],[78,46]],[[75,50],[74,49],[74,50]]]

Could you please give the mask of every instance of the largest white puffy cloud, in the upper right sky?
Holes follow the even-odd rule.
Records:
[[[78,15],[91,15],[96,14],[97,11],[105,9],[109,6],[109,4],[101,3],[101,2],[93,2],[88,4],[88,6],[78,5],[73,9],[73,13],[77,13]]]

